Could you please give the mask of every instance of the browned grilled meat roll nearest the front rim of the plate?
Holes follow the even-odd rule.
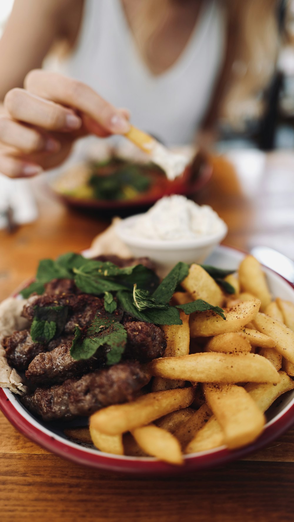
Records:
[[[119,363],[48,389],[37,388],[32,395],[23,397],[22,403],[44,421],[70,420],[130,401],[147,382],[138,362]]]

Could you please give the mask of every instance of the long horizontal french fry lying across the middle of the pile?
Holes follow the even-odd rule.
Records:
[[[255,353],[205,352],[166,357],[151,361],[149,370],[158,377],[201,383],[279,382],[273,365]]]

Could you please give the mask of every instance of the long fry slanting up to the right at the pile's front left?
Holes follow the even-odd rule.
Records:
[[[192,387],[149,393],[132,402],[108,406],[93,413],[91,425],[102,433],[120,435],[149,424],[172,411],[187,408],[193,398]]]

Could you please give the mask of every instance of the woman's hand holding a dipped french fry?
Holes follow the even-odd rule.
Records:
[[[73,142],[87,134],[125,134],[128,112],[116,109],[87,85],[60,74],[32,70],[25,89],[12,89],[0,117],[0,172],[33,176],[56,167]]]

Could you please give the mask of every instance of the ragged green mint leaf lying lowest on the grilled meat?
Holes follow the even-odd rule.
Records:
[[[76,328],[70,355],[75,360],[89,359],[95,355],[98,348],[107,346],[107,364],[116,364],[121,360],[126,339],[125,328],[114,318],[95,317],[86,333]]]

